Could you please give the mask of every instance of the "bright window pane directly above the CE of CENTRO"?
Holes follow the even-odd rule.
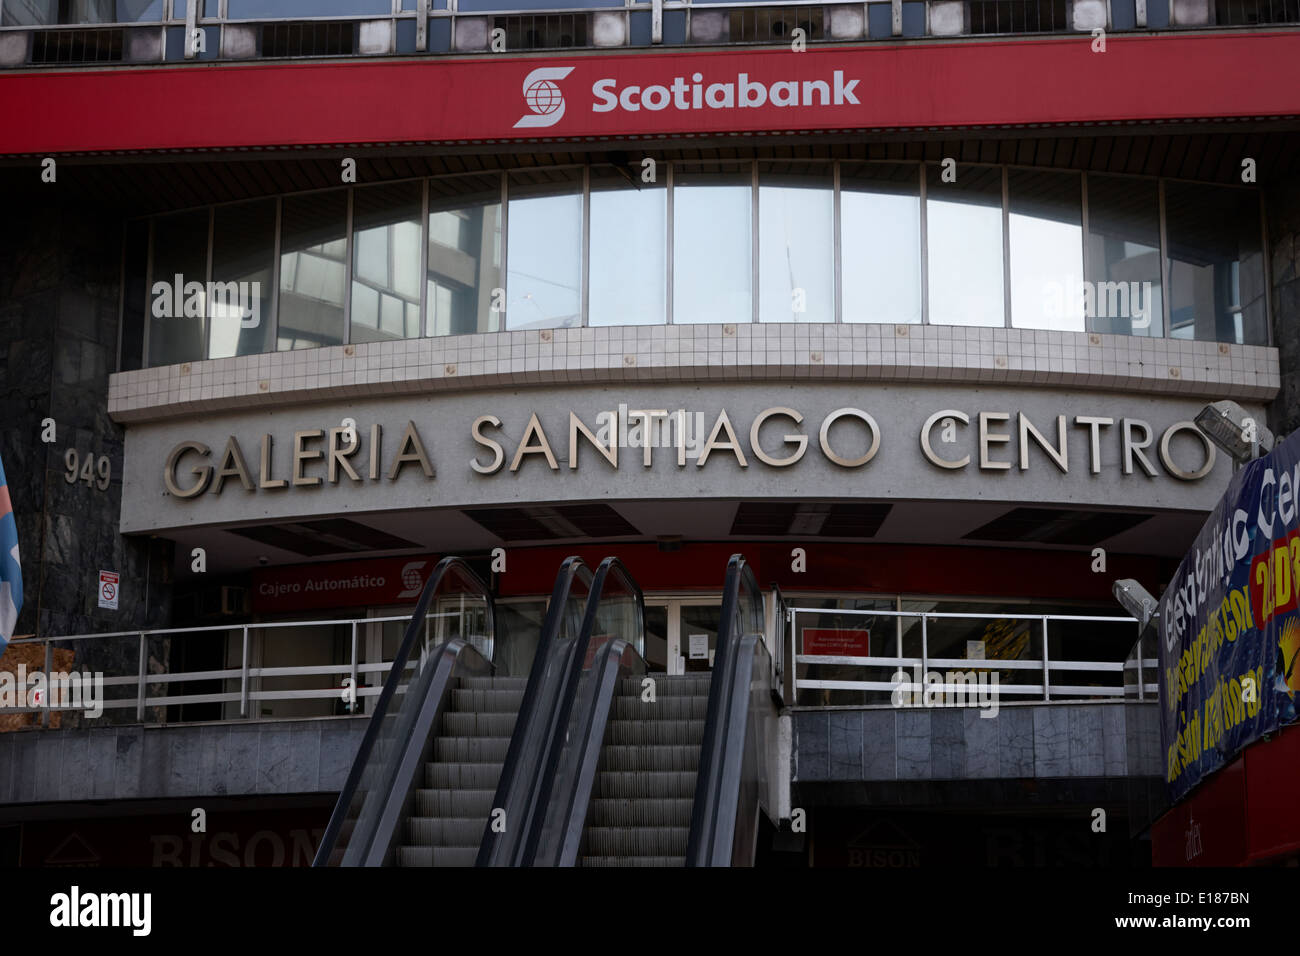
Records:
[[[927,168],[931,325],[1004,325],[1002,170],[957,166],[942,182]]]

